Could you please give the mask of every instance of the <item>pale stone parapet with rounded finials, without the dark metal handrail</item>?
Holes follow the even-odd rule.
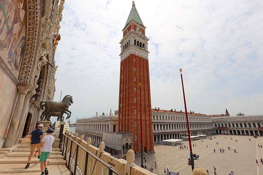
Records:
[[[72,148],[71,148],[72,154],[71,154],[70,161],[73,161],[73,162],[75,161],[76,152],[77,152],[78,154],[77,154],[76,165],[78,166],[78,171],[81,170],[81,172],[84,172],[85,167],[87,167],[87,174],[92,174],[92,172],[93,174],[105,174],[105,173],[107,174],[107,172],[109,172],[109,167],[112,167],[113,170],[116,170],[116,172],[119,173],[120,175],[154,175],[154,173],[134,164],[135,157],[134,157],[133,150],[129,150],[127,152],[127,156],[126,156],[127,160],[117,159],[117,158],[112,157],[110,153],[107,153],[104,151],[104,148],[105,148],[104,142],[100,142],[99,148],[97,148],[97,147],[90,145],[90,141],[91,141],[90,138],[87,139],[88,141],[87,143],[86,141],[83,140],[83,136],[79,136],[80,137],[79,138],[78,134],[76,134],[76,136],[73,136],[70,133],[66,132],[65,136],[68,136],[70,139],[77,142],[78,145],[81,145],[93,155],[96,155],[95,157],[93,157],[92,155],[89,155],[87,159],[86,151],[83,150],[80,146],[78,146],[78,151],[76,151],[77,144],[71,141],[70,139],[67,139],[67,137],[65,137],[64,155],[65,155],[66,150],[67,150],[67,153],[69,153],[68,151],[70,150],[70,145],[72,143]],[[65,149],[65,147],[67,147],[67,149]],[[62,147],[62,150],[63,150],[63,147]],[[69,156],[66,156],[66,157],[67,157],[66,161],[68,164]],[[87,165],[86,165],[86,160],[87,160]],[[101,162],[101,160],[103,162]],[[70,165],[70,169],[73,172],[74,166],[73,167],[72,166]]]

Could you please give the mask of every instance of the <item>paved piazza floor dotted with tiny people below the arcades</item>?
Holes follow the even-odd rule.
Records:
[[[214,139],[214,137],[216,137]],[[227,137],[225,139],[225,137]],[[233,137],[233,140],[230,139]],[[249,141],[248,139],[251,139]],[[235,139],[238,142],[235,142]],[[216,145],[216,142],[219,144]],[[155,174],[164,174],[164,168],[169,168],[171,171],[179,171],[180,175],[191,175],[191,165],[187,165],[189,156],[188,141],[184,141],[188,150],[180,150],[179,146],[166,146],[155,144],[155,154],[146,156],[146,166],[154,166],[156,160],[157,168],[154,168]],[[217,175],[228,175],[233,171],[235,175],[238,174],[263,174],[263,164],[260,164],[260,158],[263,158],[263,148],[258,148],[257,144],[262,144],[263,137],[255,139],[253,136],[225,136],[214,135],[213,140],[203,139],[192,141],[197,147],[193,147],[193,153],[199,154],[199,160],[195,160],[195,167],[202,167],[209,171],[209,174],[214,174],[213,166],[216,167]],[[208,145],[208,148],[206,147]],[[228,150],[231,147],[231,151]],[[234,153],[233,147],[236,148],[237,153]],[[219,148],[223,148],[225,153],[220,153]],[[216,149],[216,153],[214,150]],[[259,166],[256,165],[255,159],[259,160]],[[134,161],[140,165],[140,158]],[[145,161],[143,161],[145,165]]]

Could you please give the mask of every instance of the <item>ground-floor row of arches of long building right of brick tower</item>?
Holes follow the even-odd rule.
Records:
[[[214,130],[203,130],[203,131],[190,132],[191,136],[196,136],[198,134],[211,135],[214,133],[215,133]],[[155,135],[153,135],[153,141],[158,142],[158,141],[167,140],[167,139],[182,139],[182,137],[186,137],[186,136],[188,136],[187,132],[169,133],[169,134],[155,134]]]

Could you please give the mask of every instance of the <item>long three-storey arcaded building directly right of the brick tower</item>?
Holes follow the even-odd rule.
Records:
[[[215,133],[214,124],[209,115],[188,112],[191,136]],[[185,112],[175,109],[152,109],[152,127],[154,142],[166,139],[181,139],[188,136]]]

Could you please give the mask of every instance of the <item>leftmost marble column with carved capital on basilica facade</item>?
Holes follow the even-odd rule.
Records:
[[[23,104],[25,100],[25,95],[29,91],[28,86],[18,86],[17,89],[18,89],[18,99],[16,102],[16,107],[13,113],[13,117],[12,117],[9,129],[8,129],[7,137],[4,141],[4,147],[12,147],[14,144],[15,137],[16,137],[16,131],[18,128],[18,124],[19,124],[19,120],[20,120],[20,116],[21,116],[21,112],[22,112],[22,108],[23,108]]]

